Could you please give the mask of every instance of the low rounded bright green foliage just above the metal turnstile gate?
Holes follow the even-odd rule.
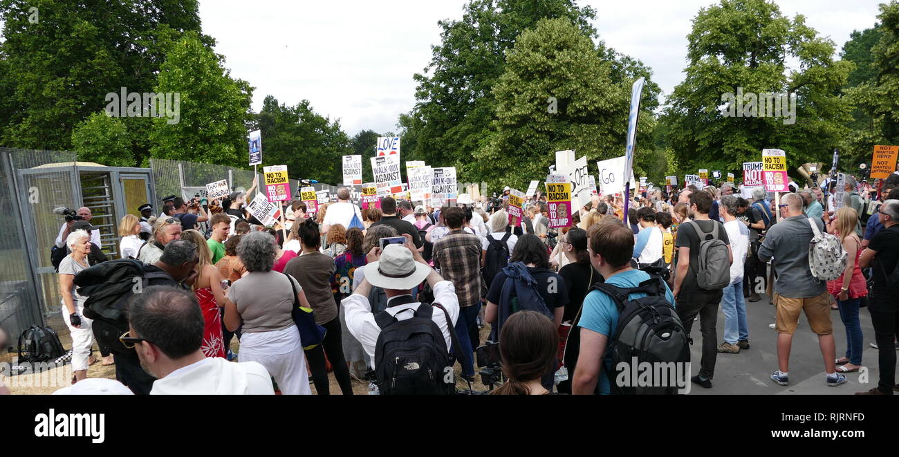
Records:
[[[77,157],[105,166],[135,166],[128,128],[120,118],[94,112],[72,131]]]

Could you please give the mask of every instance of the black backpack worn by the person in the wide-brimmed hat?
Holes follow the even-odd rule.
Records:
[[[456,383],[441,327],[433,321],[433,309],[440,308],[447,318],[452,344],[458,348],[456,330],[449,313],[440,304],[422,303],[414,316],[397,320],[386,310],[375,315],[381,329],[375,345],[375,378],[381,395],[454,395]],[[408,311],[403,311],[408,312]],[[446,382],[449,374],[449,382]]]

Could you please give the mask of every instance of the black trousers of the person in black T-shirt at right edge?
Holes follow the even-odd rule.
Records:
[[[899,335],[899,297],[875,286],[871,291],[868,311],[871,313],[871,325],[874,326],[874,339],[877,341],[877,368],[880,370],[877,389],[893,394],[896,383],[895,338]]]

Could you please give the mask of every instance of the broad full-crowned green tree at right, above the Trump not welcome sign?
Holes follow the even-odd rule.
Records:
[[[761,160],[762,148],[784,149],[790,169],[830,162],[850,121],[850,103],[839,89],[853,68],[832,57],[832,40],[818,36],[801,14],[789,19],[764,0],[722,0],[701,8],[688,39],[686,78],[674,88],[666,116],[681,173],[699,167],[736,172],[744,161]],[[797,59],[797,69],[788,69],[788,58]],[[743,93],[796,94],[796,122],[725,116],[724,95],[735,96],[738,87]]]

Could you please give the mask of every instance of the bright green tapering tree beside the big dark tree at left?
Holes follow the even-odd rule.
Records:
[[[222,60],[193,32],[168,49],[154,92],[173,94],[177,113],[153,120],[152,157],[246,166],[253,87],[231,78]]]

